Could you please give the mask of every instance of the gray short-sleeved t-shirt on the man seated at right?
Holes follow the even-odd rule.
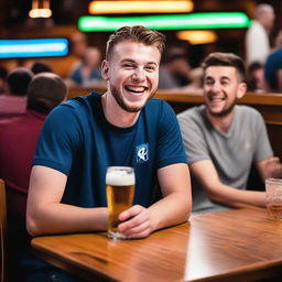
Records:
[[[246,189],[253,162],[273,155],[261,115],[248,106],[236,106],[228,132],[215,129],[206,117],[205,106],[178,116],[188,163],[210,160],[221,183]],[[226,207],[212,202],[197,180],[192,177],[193,212],[215,212]]]

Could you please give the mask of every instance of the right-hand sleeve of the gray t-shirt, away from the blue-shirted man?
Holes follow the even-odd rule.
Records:
[[[256,130],[257,130],[253,161],[259,162],[273,156],[273,151],[269,141],[267,127],[262,116],[256,111],[253,120],[256,121]]]

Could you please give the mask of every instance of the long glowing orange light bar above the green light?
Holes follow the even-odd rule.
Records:
[[[184,13],[191,12],[194,3],[181,1],[91,1],[88,11],[91,14],[107,13]]]

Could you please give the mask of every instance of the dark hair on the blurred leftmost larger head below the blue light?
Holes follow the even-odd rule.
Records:
[[[30,69],[17,67],[7,77],[9,93],[14,96],[25,96],[32,77],[33,73]]]

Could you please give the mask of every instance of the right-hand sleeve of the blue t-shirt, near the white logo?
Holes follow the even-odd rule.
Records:
[[[166,102],[162,104],[160,110],[158,132],[158,169],[187,163],[176,116]]]

